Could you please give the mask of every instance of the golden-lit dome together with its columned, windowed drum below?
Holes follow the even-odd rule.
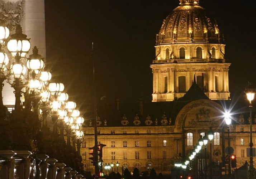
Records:
[[[193,77],[211,100],[228,100],[225,44],[214,19],[198,0],[180,0],[156,36],[152,101],[173,101],[192,85]]]

